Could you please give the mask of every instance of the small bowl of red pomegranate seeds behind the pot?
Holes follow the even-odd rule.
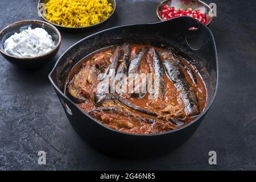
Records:
[[[209,26],[213,20],[213,11],[203,1],[199,0],[164,0],[157,9],[156,14],[162,21],[179,16],[190,16]]]

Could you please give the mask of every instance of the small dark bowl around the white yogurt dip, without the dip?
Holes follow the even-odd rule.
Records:
[[[44,28],[44,30],[46,30],[48,34],[52,36],[55,47],[46,54],[35,57],[18,57],[11,56],[6,53],[3,47],[3,43],[5,43],[5,40],[10,38],[11,35],[14,35],[15,32],[19,33],[22,30],[26,30],[28,27]],[[31,69],[42,67],[42,65],[46,64],[47,61],[51,60],[57,54],[60,48],[60,43],[61,35],[57,28],[47,22],[43,22],[40,20],[23,20],[20,22],[16,22],[10,24],[0,32],[0,53],[3,55],[3,57],[5,57],[7,61],[22,68]]]

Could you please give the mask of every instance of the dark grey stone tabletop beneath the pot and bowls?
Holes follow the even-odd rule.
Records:
[[[37,2],[2,0],[0,29],[18,20],[40,19]],[[156,22],[158,2],[118,0],[114,17],[100,29]],[[217,44],[220,86],[204,122],[187,143],[168,155],[127,160],[100,154],[83,142],[69,125],[47,76],[65,49],[92,32],[61,32],[58,55],[38,71],[16,68],[0,56],[0,170],[256,169],[256,3],[214,3],[217,17],[210,29]],[[40,150],[47,152],[46,165],[38,164]],[[208,164],[211,150],[217,152],[216,166]]]

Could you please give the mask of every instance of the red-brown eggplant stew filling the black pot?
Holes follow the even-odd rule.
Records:
[[[127,77],[110,77],[118,73]],[[149,74],[151,82],[134,73]],[[119,93],[113,91],[117,85],[133,89]],[[204,110],[207,100],[203,78],[184,57],[172,49],[128,43],[100,49],[79,61],[69,73],[65,94],[104,125],[137,134],[184,126]]]

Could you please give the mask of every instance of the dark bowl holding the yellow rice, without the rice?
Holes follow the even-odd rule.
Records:
[[[64,32],[69,32],[69,33],[81,33],[81,32],[88,32],[88,31],[92,31],[95,30],[96,28],[99,28],[100,26],[102,26],[104,23],[106,23],[111,16],[115,13],[115,9],[117,8],[117,3],[115,2],[115,0],[108,0],[110,3],[112,3],[113,5],[113,11],[112,13],[109,15],[108,18],[106,18],[105,20],[103,20],[100,23],[97,24],[93,24],[91,26],[86,26],[86,27],[65,27],[65,26],[60,26],[59,24],[55,24],[50,22],[48,19],[44,18],[44,15],[42,14],[42,12],[40,11],[41,8],[44,8],[45,4],[48,2],[49,0],[39,0],[38,2],[38,14],[48,23],[53,24],[54,26],[56,26],[60,31],[64,31]],[[42,4],[43,3],[43,4]]]

